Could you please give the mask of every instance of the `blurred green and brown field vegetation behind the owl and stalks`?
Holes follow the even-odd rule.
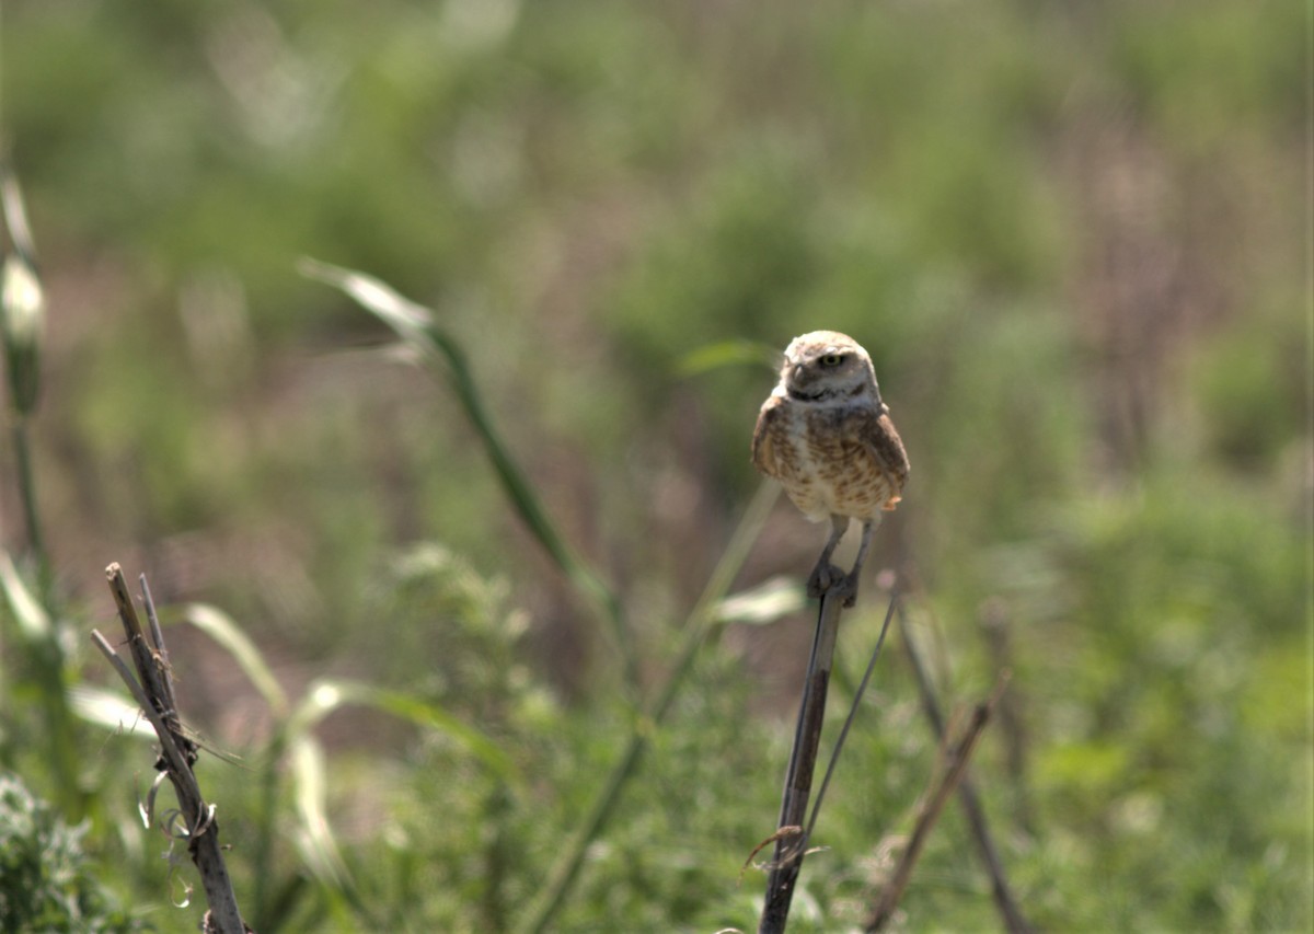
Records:
[[[67,677],[105,680],[85,632],[118,560],[222,607],[293,696],[340,675],[440,705],[526,783],[442,732],[326,717],[350,883],[252,826],[283,818],[243,767],[202,787],[261,931],[507,927],[629,729],[614,645],[445,388],[298,259],[436,309],[646,684],[756,486],[774,380],[691,355],[841,330],[913,464],[876,562],[918,569],[950,700],[1014,671],[1021,768],[988,736],[975,772],[1033,920],[1307,930],[1309,28],[1307,4],[1227,0],[7,0]],[[740,585],[819,546],[782,502]],[[561,930],[752,926],[736,872],[774,829],[808,631],[706,648]],[[89,821],[67,839],[120,902],[188,927],[129,824],[145,751],[87,728],[59,791],[29,632],[0,628],[4,767]],[[263,749],[277,716],[239,666],[172,638],[184,713]],[[800,930],[857,923],[932,767],[907,673],[878,680]],[[913,929],[995,923],[964,834],[946,814]]]

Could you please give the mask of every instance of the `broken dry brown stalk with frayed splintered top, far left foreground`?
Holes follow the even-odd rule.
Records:
[[[155,761],[155,768],[168,775],[170,782],[173,783],[179,809],[185,821],[185,829],[180,833],[187,839],[188,853],[201,875],[201,887],[205,889],[205,900],[209,904],[209,910],[201,922],[201,930],[206,934],[254,934],[242,921],[242,913],[238,910],[233,880],[229,878],[223,851],[219,846],[219,825],[214,820],[215,808],[213,804],[205,803],[201,787],[192,772],[192,766],[196,765],[197,759],[197,745],[184,733],[181,720],[177,716],[168,652],[164,649],[164,637],[155,616],[155,604],[151,602],[146,577],[142,575],[141,583],[146,616],[151,628],[150,640],[142,631],[137,608],[133,606],[133,598],[124,581],[124,571],[117,562],[105,569],[105,577],[109,582],[109,592],[114,596],[114,604],[118,608],[118,619],[127,636],[133,667],[137,669],[135,677],[133,669],[100,634],[99,629],[92,631],[92,640],[118,671],[124,683],[127,684],[127,690],[131,691],[142,713],[155,729],[155,736],[159,737],[160,754]]]

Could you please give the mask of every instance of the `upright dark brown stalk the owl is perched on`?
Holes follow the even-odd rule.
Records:
[[[790,753],[790,765],[784,772],[784,795],[777,825],[779,830],[777,830],[771,871],[766,880],[766,899],[762,904],[762,917],[758,920],[758,934],[781,934],[784,930],[790,917],[790,904],[794,900],[794,887],[803,868],[803,856],[807,854],[807,837],[803,833],[784,830],[802,828],[808,813],[812,774],[816,771],[817,747],[821,744],[825,698],[830,687],[830,669],[834,665],[834,646],[842,610],[842,595],[821,596],[817,628],[812,637],[812,654],[808,658],[808,671],[803,684],[803,701],[799,704],[799,720],[794,729],[794,750]]]

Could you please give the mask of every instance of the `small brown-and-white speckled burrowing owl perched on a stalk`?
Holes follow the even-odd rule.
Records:
[[[908,455],[880,401],[871,357],[853,338],[813,331],[784,351],[781,382],[762,403],[753,432],[753,464],[784,485],[812,522],[830,519],[830,537],[808,578],[808,594],[840,587],[844,606],[858,595],[858,573],[871,533],[900,499]],[[830,564],[849,519],[862,522],[853,570]]]

